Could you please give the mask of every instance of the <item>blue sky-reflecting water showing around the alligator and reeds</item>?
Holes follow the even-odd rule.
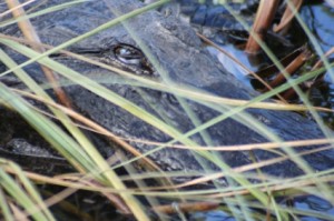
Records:
[[[315,36],[317,42],[321,46],[323,53],[328,51],[334,47],[334,8],[331,8],[330,4],[325,2],[314,1],[315,3],[308,3],[303,6],[301,9],[301,16],[303,20],[306,22],[306,26],[311,30],[311,32]],[[212,6],[213,7],[213,6]],[[220,7],[222,8],[222,7]],[[225,51],[227,51],[233,57],[237,58],[243,64],[245,64],[249,70],[256,72],[261,70],[263,67],[271,64],[271,61],[265,54],[258,54],[257,57],[247,56],[240,48],[246,42],[246,38],[242,34],[235,36],[230,31],[222,31],[217,29],[215,23],[220,23],[215,17],[215,13],[222,11],[224,9],[219,9],[219,7],[213,7],[206,4],[198,7],[198,10],[193,10],[194,14],[190,14],[189,21],[194,24],[195,29],[202,32],[204,36],[208,37],[216,44],[222,47]],[[208,14],[209,12],[214,14]],[[189,16],[189,11],[187,11],[187,16]],[[217,13],[218,14],[218,13]],[[204,21],[204,19],[212,19],[210,21]],[[205,24],[212,24],[209,27],[205,27]],[[295,27],[294,32],[286,37],[287,41],[281,43],[273,43],[269,40],[268,47],[273,50],[274,54],[278,57],[278,59],[288,54],[291,51],[299,48],[301,46],[307,44],[311,51],[315,51],[314,47],[311,42],[308,42],[306,34],[304,34],[303,30],[299,27]],[[238,30],[240,31],[240,30]],[[236,32],[242,33],[242,32]],[[275,36],[269,37],[274,38]],[[276,42],[276,41],[275,41]],[[210,53],[215,54],[217,59],[223,63],[224,68],[226,68],[229,72],[234,73],[235,77],[245,83],[248,87],[253,87],[250,83],[250,78],[247,76],[248,72],[240,68],[225,53],[218,51],[214,47],[208,46],[207,49]],[[318,58],[315,58],[318,59]],[[330,61],[334,60],[334,56],[331,56]],[[324,74],[324,81],[313,87],[310,91],[310,100],[315,106],[326,107],[334,109],[334,82],[331,80],[327,73]],[[323,119],[327,122],[331,128],[334,128],[334,114],[333,113],[322,113]],[[299,211],[317,211],[320,213],[325,213],[327,215],[333,215],[334,218],[334,208],[333,205],[315,195],[308,197],[298,197],[294,198],[291,202],[289,207]],[[213,211],[207,213],[196,213],[191,215],[191,220],[206,220],[206,221],[232,221],[235,220],[230,214],[224,213],[222,211]],[[299,220],[303,221],[316,221],[320,219],[312,217],[299,217]]]

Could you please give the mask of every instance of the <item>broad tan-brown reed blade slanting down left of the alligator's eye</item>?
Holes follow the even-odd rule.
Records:
[[[6,2],[8,4],[8,8],[10,10],[12,10],[12,14],[14,18],[20,18],[20,17],[26,16],[26,12],[19,1],[6,0]],[[18,26],[19,26],[20,30],[22,31],[26,39],[28,39],[29,41],[35,41],[37,43],[40,43],[40,39],[39,39],[38,34],[35,31],[33,26],[31,24],[31,22],[28,19],[18,21]],[[32,49],[38,52],[45,51],[45,49],[42,47],[32,47]],[[63,106],[71,108],[71,103],[70,103],[69,99],[67,98],[65,91],[60,88],[60,86],[58,83],[58,77],[47,67],[41,66],[41,69],[43,71],[46,78],[52,86],[52,89],[53,89],[55,93],[57,94],[59,101]]]

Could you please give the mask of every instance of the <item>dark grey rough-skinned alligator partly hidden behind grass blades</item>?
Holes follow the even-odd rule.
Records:
[[[49,0],[48,6],[62,2],[67,1]],[[110,21],[119,14],[144,6],[143,2],[137,0],[87,1],[61,11],[33,18],[31,22],[43,43],[58,46]],[[8,27],[2,32],[18,34],[14,27]],[[22,56],[10,51],[4,46],[1,46],[1,48],[12,54],[16,60],[22,61]],[[136,77],[169,84],[174,89],[188,89],[196,91],[197,94],[237,100],[252,100],[258,96],[256,91],[227,72],[217,59],[203,47],[200,39],[189,24],[178,20],[173,14],[164,14],[158,11],[145,12],[127,20],[124,26],[118,24],[75,43],[68,50],[124,69]],[[116,83],[112,83],[112,81],[102,81],[101,83],[174,127],[180,133],[186,133],[195,129],[196,125],[208,122],[230,109],[230,107],[219,103],[213,106],[205,100],[187,99],[173,90],[164,91],[159,88],[119,83],[120,81],[117,80],[124,77],[116,71],[106,70],[70,57],[53,54],[53,58],[91,79],[116,80]],[[2,69],[4,68],[2,67]],[[31,64],[26,69],[38,82],[46,82],[37,64]],[[13,86],[13,80],[10,78],[12,77],[6,76],[1,77],[0,80],[7,82],[7,84],[11,83],[11,87],[22,87],[18,82]],[[132,115],[82,87],[67,86],[65,90],[76,111],[119,137],[155,142],[171,140],[168,134],[147,121]],[[252,120],[242,114],[234,114],[207,128],[203,133],[193,134],[190,139],[199,145],[236,145],[271,141],[272,138],[265,131],[272,131],[284,141],[320,139],[324,138],[324,134],[332,134],[328,129],[320,129],[313,120],[296,112],[247,109],[244,114],[250,117]],[[193,118],[189,115],[193,115]],[[1,134],[1,148],[8,147],[8,143],[11,143],[11,147],[13,143],[18,143],[12,142],[13,139],[26,139],[28,142],[29,138],[37,139],[38,134],[35,134],[31,130],[23,132],[24,138],[16,132],[16,130],[22,131],[22,129],[19,128],[20,124],[16,123],[13,125],[11,122],[19,121],[19,117],[4,107],[1,107],[0,119],[2,131],[6,129],[10,133]],[[257,128],[254,122],[263,124],[265,131]],[[24,128],[28,128],[28,125]],[[204,133],[209,139],[205,139]],[[110,147],[114,145],[106,144],[106,141],[99,135],[90,134],[90,138],[97,143],[97,148],[105,157],[112,154]],[[33,142],[35,145],[41,148],[46,145],[42,139]],[[130,141],[130,144],[141,153],[156,148],[151,144],[135,141]],[[307,147],[305,149],[313,150],[314,148]],[[10,150],[12,148],[9,149],[9,152]],[[189,150],[165,148],[150,153],[148,157],[165,171],[203,171],[203,165],[197,161],[196,154]],[[253,157],[257,161],[262,161],[277,157],[277,154],[265,150],[254,150]],[[233,168],[252,163],[254,161],[253,157],[248,151],[220,153],[222,160]],[[322,171],[334,167],[333,158],[333,151],[326,150],[308,154],[304,159],[314,170]],[[218,170],[218,167],[214,163],[204,161],[207,167]],[[281,177],[294,177],[303,173],[292,161],[283,161],[265,167],[264,171]]]

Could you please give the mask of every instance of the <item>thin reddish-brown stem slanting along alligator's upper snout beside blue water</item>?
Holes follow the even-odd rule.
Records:
[[[265,82],[261,77],[258,77],[254,71],[249,70],[246,66],[244,66],[242,62],[239,62],[236,58],[234,58],[232,54],[229,54],[227,51],[225,51],[224,49],[222,49],[218,44],[216,44],[215,42],[210,41],[209,39],[207,39],[205,36],[200,34],[200,33],[196,33],[203,41],[205,41],[206,43],[208,43],[209,46],[214,47],[215,49],[217,49],[218,51],[220,51],[222,53],[226,54],[228,58],[230,58],[235,63],[237,63],[239,67],[242,67],[245,71],[247,71],[248,73],[250,73],[255,79],[257,79],[263,86],[265,86],[268,90],[273,90],[273,88]],[[277,94],[277,98],[283,102],[283,103],[288,103],[282,96]]]

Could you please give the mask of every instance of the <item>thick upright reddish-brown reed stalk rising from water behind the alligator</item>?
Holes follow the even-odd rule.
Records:
[[[264,40],[264,37],[272,26],[275,12],[277,10],[279,0],[262,0],[256,12],[256,18],[249,34],[245,51],[248,53],[257,53],[261,49],[259,44],[255,40],[257,37],[259,40]]]

